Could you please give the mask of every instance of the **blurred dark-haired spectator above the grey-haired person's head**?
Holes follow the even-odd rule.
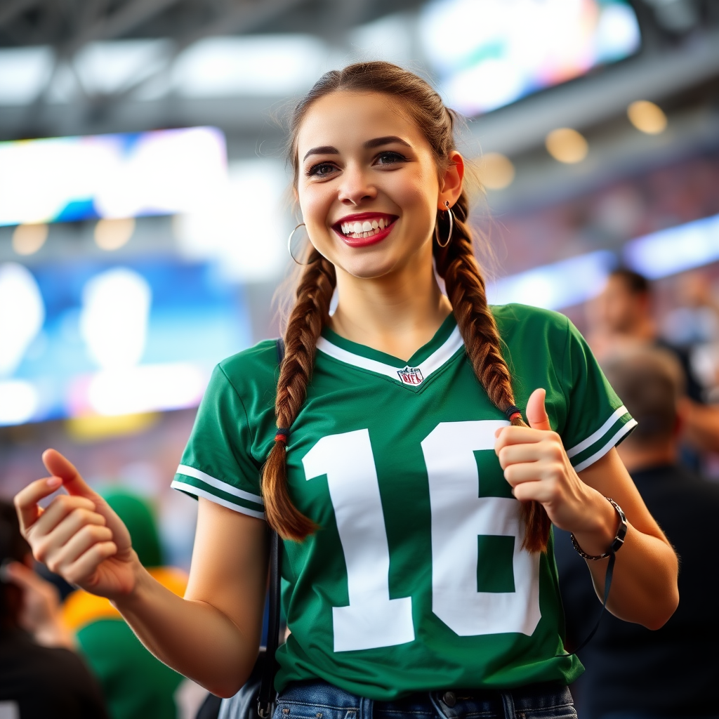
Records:
[[[719,452],[719,409],[704,403],[687,349],[659,336],[649,281],[632,270],[614,270],[593,309],[594,326],[587,339],[600,362],[615,352],[641,346],[663,347],[674,354],[684,373],[684,396],[679,400],[682,440],[700,452]]]

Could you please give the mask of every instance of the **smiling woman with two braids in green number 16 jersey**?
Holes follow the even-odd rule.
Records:
[[[487,306],[453,122],[388,63],[327,73],[298,105],[311,245],[286,356],[278,372],[261,342],[211,379],[173,482],[200,502],[184,600],[57,452],[17,496],[38,559],[222,696],[257,656],[266,518],[285,538],[292,631],[278,718],[574,715],[549,521],[605,554],[620,526],[605,497],[628,517],[610,610],[657,628],[677,605],[677,559],[613,449],[633,421],[582,338],[555,313]],[[589,562],[598,592],[606,562]]]

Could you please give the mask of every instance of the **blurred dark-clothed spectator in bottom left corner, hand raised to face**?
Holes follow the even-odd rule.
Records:
[[[0,712],[18,719],[103,719],[100,687],[59,618],[55,587],[30,569],[12,505],[0,501]]]

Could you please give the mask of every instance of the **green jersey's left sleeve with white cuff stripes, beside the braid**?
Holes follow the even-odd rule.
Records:
[[[218,365],[171,486],[264,519],[260,467],[249,452],[253,434],[242,398]]]

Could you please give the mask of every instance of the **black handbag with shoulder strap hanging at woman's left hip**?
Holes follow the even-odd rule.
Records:
[[[277,341],[278,365],[285,357],[285,343]],[[268,719],[273,712],[275,690],[273,683],[277,672],[275,652],[280,643],[280,568],[282,566],[282,541],[274,529],[270,534],[270,616],[267,621],[267,647],[260,647],[255,666],[242,689],[229,699],[222,700],[209,694],[202,703],[196,719]]]

